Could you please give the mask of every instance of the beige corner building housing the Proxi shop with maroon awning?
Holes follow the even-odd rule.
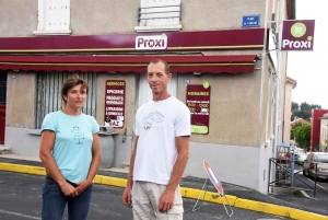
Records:
[[[77,72],[91,84],[83,111],[101,126],[110,117],[113,165],[122,166],[136,109],[151,99],[147,66],[162,58],[173,72],[171,93],[192,113],[185,175],[206,177],[207,160],[221,181],[267,193],[283,129],[286,51],[277,49],[278,21],[293,19],[295,0],[2,1],[3,142],[37,157],[43,117],[60,109],[59,86]]]

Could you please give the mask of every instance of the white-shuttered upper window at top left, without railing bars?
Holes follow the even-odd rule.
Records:
[[[70,0],[38,0],[38,23],[35,35],[69,35]]]

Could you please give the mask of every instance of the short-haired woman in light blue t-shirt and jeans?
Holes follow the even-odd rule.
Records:
[[[60,96],[63,109],[46,115],[42,126],[39,158],[47,171],[43,185],[44,220],[62,219],[66,205],[70,220],[87,219],[93,178],[101,163],[95,118],[81,113],[87,83],[69,77]]]

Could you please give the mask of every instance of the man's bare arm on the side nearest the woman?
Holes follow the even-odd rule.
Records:
[[[133,167],[134,167],[134,159],[136,159],[136,153],[137,153],[138,139],[139,139],[139,136],[136,136],[134,148],[132,150],[131,159],[130,159],[128,183],[127,183],[125,193],[122,195],[122,202],[124,202],[124,205],[126,205],[128,207],[131,206],[131,190],[132,190],[132,185],[133,185]]]

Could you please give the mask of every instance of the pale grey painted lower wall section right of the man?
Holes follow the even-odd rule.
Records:
[[[220,181],[258,190],[258,148],[190,142],[185,175],[206,178],[202,164],[207,160]]]

